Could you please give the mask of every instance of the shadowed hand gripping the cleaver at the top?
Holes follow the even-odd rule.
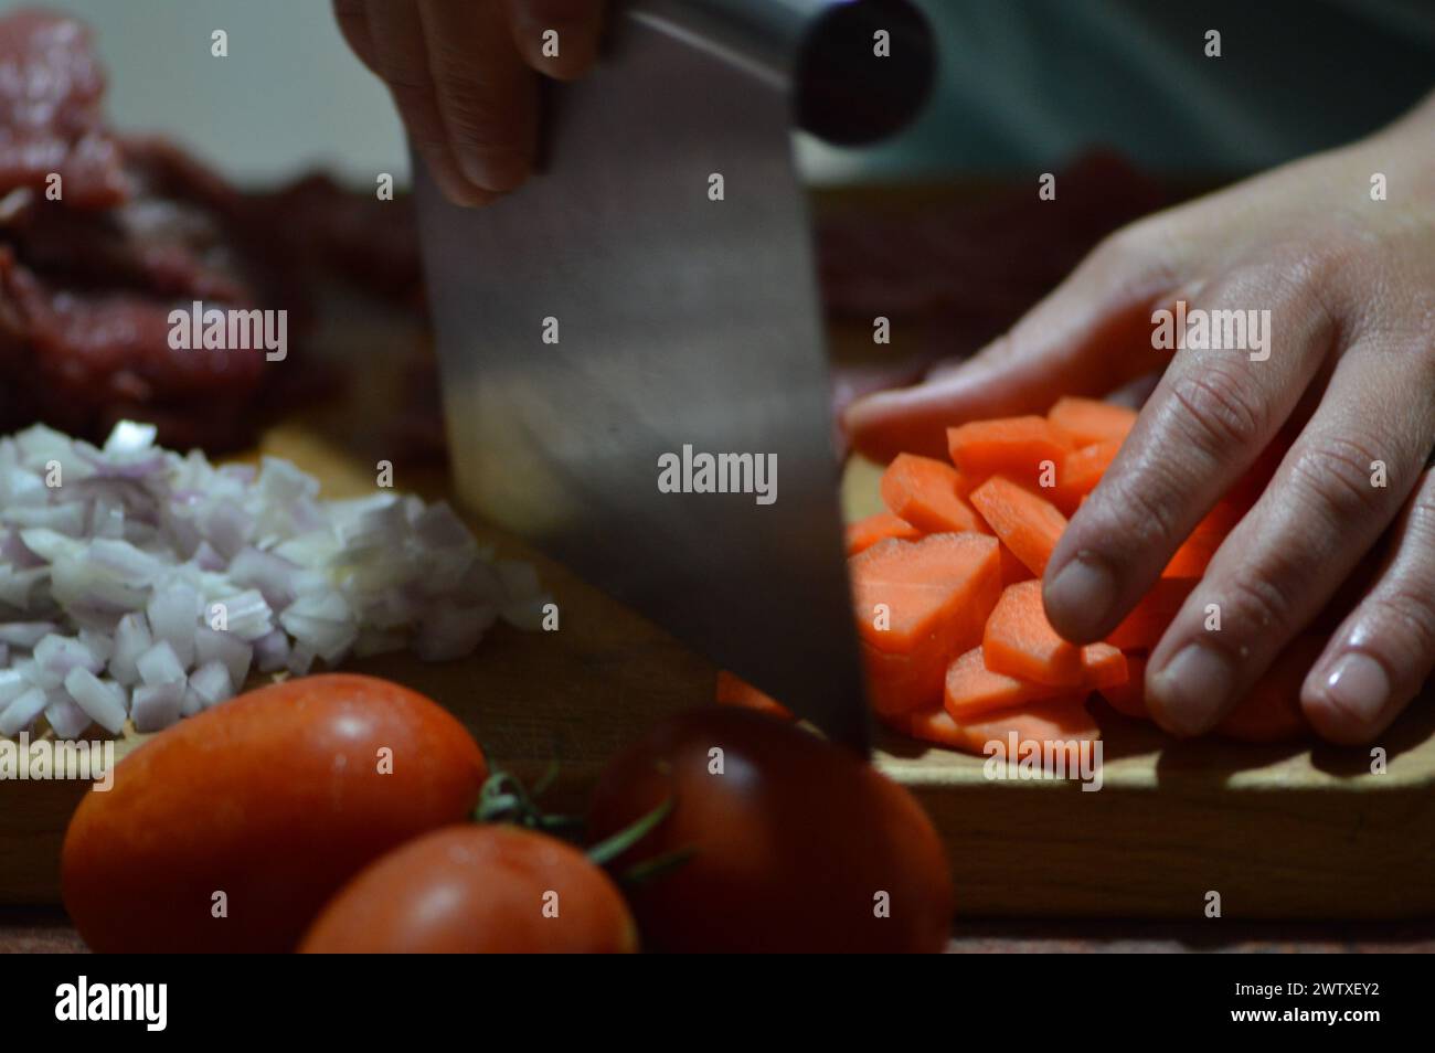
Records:
[[[532,168],[535,73],[581,76],[600,0],[334,0],[339,29],[393,93],[445,197],[485,205]]]

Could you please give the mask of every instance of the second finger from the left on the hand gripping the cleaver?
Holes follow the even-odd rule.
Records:
[[[379,76],[389,86],[409,142],[429,166],[433,182],[458,205],[485,205],[491,191],[471,182],[449,148],[448,129],[439,116],[433,79],[429,76],[423,22],[413,0],[367,0],[364,14]]]

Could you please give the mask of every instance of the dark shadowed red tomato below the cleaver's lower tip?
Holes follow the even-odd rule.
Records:
[[[748,710],[682,713],[607,768],[590,834],[610,836],[667,798],[673,811],[616,862],[692,849],[629,891],[646,945],[944,945],[953,892],[937,832],[905,789],[841,749]]]

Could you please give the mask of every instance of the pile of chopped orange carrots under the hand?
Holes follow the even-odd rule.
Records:
[[[1068,516],[1135,419],[1124,406],[1062,399],[1045,417],[947,429],[951,463],[903,453],[888,465],[888,511],[847,528],[868,697],[883,723],[983,753],[1012,732],[1019,743],[1101,737],[1088,709],[1093,693],[1125,717],[1149,719],[1147,654],[1260,495],[1270,463],[1215,505],[1105,641],[1081,647],[1046,620],[1040,578]],[[1306,636],[1287,647],[1218,733],[1247,742],[1303,736],[1300,683],[1322,644]],[[786,713],[726,673],[719,702]]]

